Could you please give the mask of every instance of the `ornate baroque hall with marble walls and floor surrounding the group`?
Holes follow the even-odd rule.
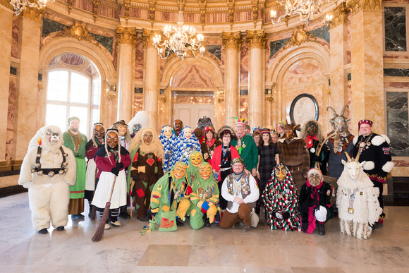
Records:
[[[315,0],[320,11],[307,21],[287,15],[295,0],[56,0],[16,9],[34,2],[0,0],[2,272],[408,272],[409,1]],[[176,22],[202,35],[186,46],[205,50],[159,56],[156,35],[164,40]],[[94,243],[97,222],[87,216],[42,235],[18,185],[33,135],[49,124],[66,131],[72,113],[88,138],[93,123],[108,128],[139,111],[157,132],[175,119],[195,128],[206,115],[216,130],[234,127],[232,117],[251,128],[315,119],[326,135],[335,115],[327,107],[339,114],[344,106],[350,133],[370,119],[391,140],[384,227],[367,240],[341,233],[337,217],[325,236],[272,231],[263,217],[248,233],[186,224],[141,236],[144,223],[133,217]]]

